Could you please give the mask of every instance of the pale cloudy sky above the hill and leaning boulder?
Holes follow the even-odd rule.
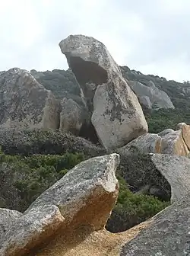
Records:
[[[84,34],[120,66],[190,80],[190,0],[6,0],[0,31],[0,71],[68,69],[59,42]]]

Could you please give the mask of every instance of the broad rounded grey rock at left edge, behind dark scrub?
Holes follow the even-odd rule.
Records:
[[[30,130],[59,127],[54,95],[24,69],[9,69],[0,74],[0,98],[1,127]]]

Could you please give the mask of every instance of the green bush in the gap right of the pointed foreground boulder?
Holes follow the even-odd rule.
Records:
[[[162,202],[156,197],[133,194],[124,179],[118,178],[120,185],[118,201],[106,224],[106,229],[110,232],[130,229],[169,206],[169,202]]]

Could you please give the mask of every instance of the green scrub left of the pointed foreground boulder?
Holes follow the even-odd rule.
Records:
[[[29,157],[1,153],[0,201],[6,208],[24,212],[44,190],[84,160],[83,153]]]

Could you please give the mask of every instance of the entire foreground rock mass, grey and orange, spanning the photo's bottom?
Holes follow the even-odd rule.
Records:
[[[49,187],[24,214],[0,209],[1,256],[188,255],[190,160],[160,154],[150,158],[171,182],[176,201],[153,218],[122,233],[107,232],[119,193],[119,155],[90,158]]]

